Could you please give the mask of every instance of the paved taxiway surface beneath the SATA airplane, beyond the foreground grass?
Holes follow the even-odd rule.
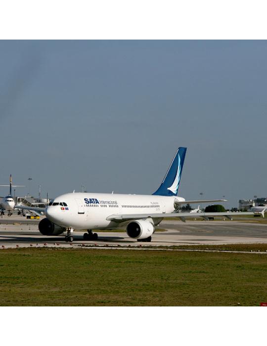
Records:
[[[150,243],[137,242],[126,232],[97,232],[97,241],[84,241],[83,232],[74,232],[72,245],[63,235],[44,236],[38,230],[39,220],[23,216],[0,218],[0,249],[15,247],[77,247],[81,245],[134,247],[198,244],[267,243],[267,224],[240,221],[163,221]]]

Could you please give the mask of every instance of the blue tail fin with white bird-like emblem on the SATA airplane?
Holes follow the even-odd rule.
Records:
[[[153,195],[177,196],[186,148],[179,147],[160,187]]]

